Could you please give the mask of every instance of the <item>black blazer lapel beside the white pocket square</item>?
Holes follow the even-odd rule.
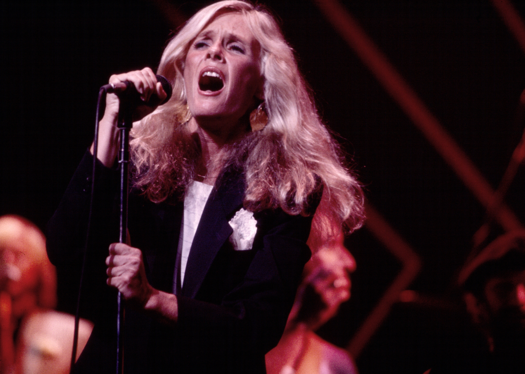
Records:
[[[233,232],[229,220],[243,205],[243,177],[229,174],[223,180],[208,198],[195,232],[182,286],[182,294],[187,297],[197,294],[217,252]]]

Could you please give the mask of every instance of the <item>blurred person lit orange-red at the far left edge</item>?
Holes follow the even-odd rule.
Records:
[[[56,283],[44,234],[25,218],[0,217],[0,374],[69,372],[75,319],[54,311]],[[81,320],[77,358],[91,329]]]

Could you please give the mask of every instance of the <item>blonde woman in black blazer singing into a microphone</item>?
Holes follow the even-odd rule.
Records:
[[[157,73],[173,95],[131,132],[130,245],[113,243],[119,98],[107,95],[82,290],[95,329],[76,372],[114,372],[118,290],[127,374],[264,373],[310,258],[321,195],[352,231],[363,221],[360,185],[266,10],[237,0],[205,7],[167,44]],[[110,78],[124,81],[144,101],[165,98],[149,68]],[[62,278],[79,272],[91,162],[92,149],[49,224]]]

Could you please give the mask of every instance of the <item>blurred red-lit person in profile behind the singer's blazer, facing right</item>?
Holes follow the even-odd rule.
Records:
[[[323,195],[312,221],[307,242],[312,258],[304,266],[285,332],[277,347],[266,354],[268,374],[358,372],[348,352],[315,333],[349,300],[350,274],[356,269],[355,259],[344,247],[341,226],[328,214],[326,200]]]

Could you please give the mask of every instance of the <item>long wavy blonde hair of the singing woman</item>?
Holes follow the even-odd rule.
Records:
[[[339,145],[322,124],[293,50],[268,10],[245,1],[226,0],[199,10],[168,42],[158,74],[170,81],[173,95],[133,128],[135,186],[150,200],[164,201],[182,198],[193,180],[199,146],[186,126],[191,114],[183,79],[185,58],[197,35],[228,12],[242,14],[260,44],[268,114],[264,129],[230,145],[224,167],[236,165],[245,173],[245,207],[252,211],[279,207],[292,215],[306,215],[308,197],[321,183],[333,215],[350,231],[359,228],[364,220],[361,186],[343,165]]]

